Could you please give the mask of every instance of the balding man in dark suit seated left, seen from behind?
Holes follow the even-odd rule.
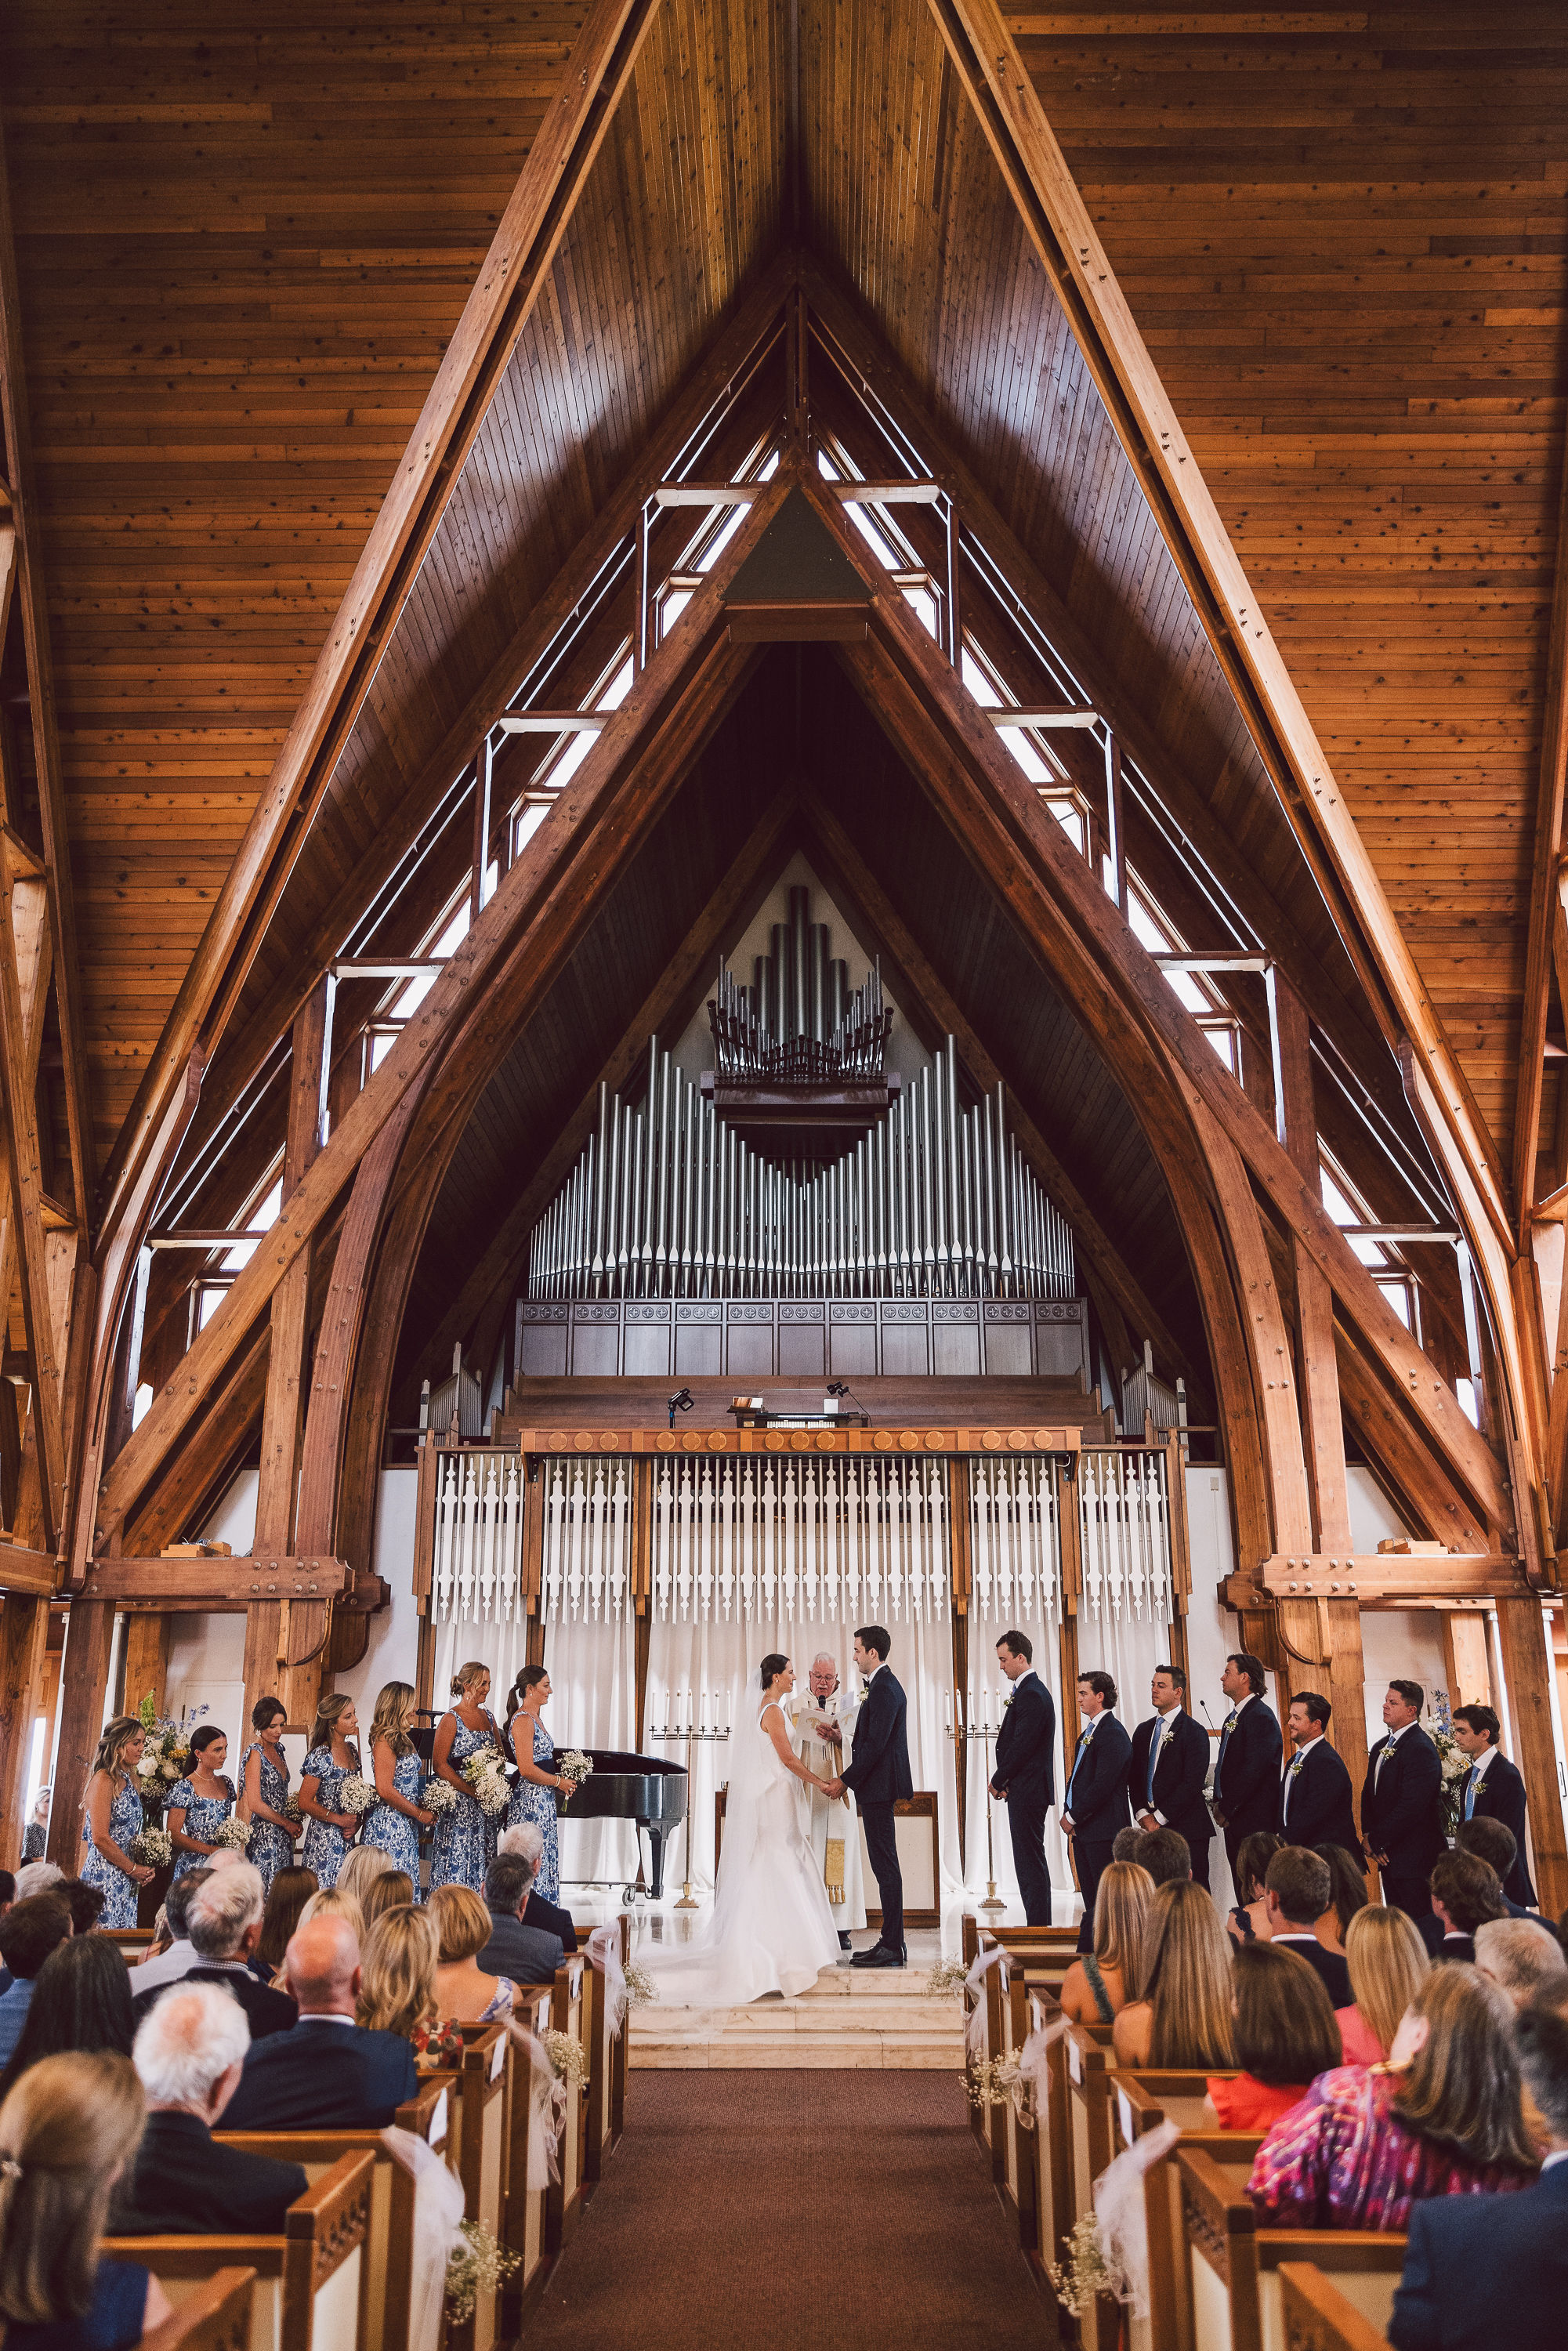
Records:
[[[228,2130],[386,2130],[418,2090],[418,2074],[400,2034],[355,2022],[362,1977],[350,1923],[324,1916],[299,1925],[284,1975],[299,2024],[254,2043]]]

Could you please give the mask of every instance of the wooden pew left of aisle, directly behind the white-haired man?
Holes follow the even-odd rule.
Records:
[[[254,2269],[249,2351],[367,2351],[374,2170],[369,2154],[339,2156],[282,2236],[110,2236],[103,2252],[150,2269],[176,2309],[221,2269]]]

